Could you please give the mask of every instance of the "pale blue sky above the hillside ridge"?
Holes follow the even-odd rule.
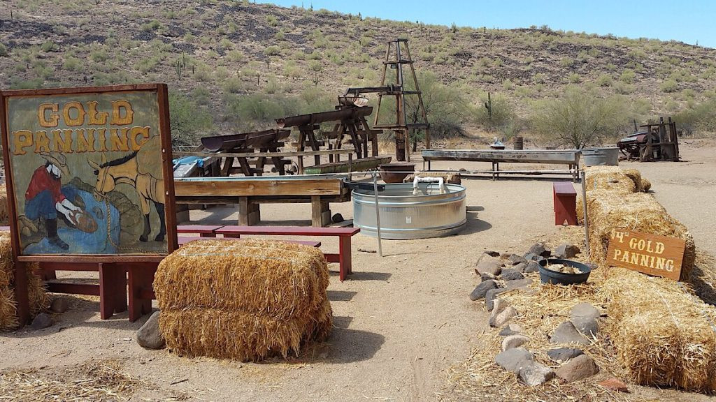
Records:
[[[280,6],[328,9],[425,24],[526,28],[546,24],[563,31],[630,38],[674,39],[716,47],[716,0],[274,0]]]

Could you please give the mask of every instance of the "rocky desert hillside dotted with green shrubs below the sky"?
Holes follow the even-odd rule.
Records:
[[[434,113],[449,116],[446,133],[510,134],[573,87],[618,97],[625,121],[716,95],[715,49],[548,26],[472,29],[224,0],[9,0],[0,13],[1,87],[167,82],[173,125],[187,135],[332,109],[347,87],[380,83],[386,41],[397,37],[410,39],[423,90],[458,104]],[[485,124],[487,92],[505,114],[495,124]]]

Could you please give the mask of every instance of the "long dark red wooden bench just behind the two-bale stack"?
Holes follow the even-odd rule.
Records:
[[[341,282],[352,273],[351,237],[357,232],[360,232],[359,227],[224,226],[216,230],[216,233],[223,237],[241,237],[241,235],[338,237],[338,253],[324,253],[324,255],[329,263],[339,264]]]

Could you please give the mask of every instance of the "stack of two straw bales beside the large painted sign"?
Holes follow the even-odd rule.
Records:
[[[314,247],[203,240],[165,258],[154,289],[170,350],[258,361],[328,337],[328,283],[324,256]]]

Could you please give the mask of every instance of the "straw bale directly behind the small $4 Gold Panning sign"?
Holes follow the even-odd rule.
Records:
[[[681,280],[689,278],[696,259],[694,239],[686,226],[674,219],[652,195],[643,192],[591,192],[589,209],[589,250],[594,263],[604,265],[611,230],[623,228],[654,235],[677,237],[686,242]]]

